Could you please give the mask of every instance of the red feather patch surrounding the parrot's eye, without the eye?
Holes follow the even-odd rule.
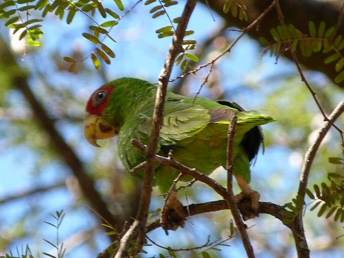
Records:
[[[86,104],[86,112],[94,115],[101,115],[104,108],[106,107],[108,101],[110,100],[110,95],[114,87],[105,86],[95,90],[91,97],[88,99]],[[97,94],[99,92],[104,92],[106,95],[102,100],[97,99]]]

